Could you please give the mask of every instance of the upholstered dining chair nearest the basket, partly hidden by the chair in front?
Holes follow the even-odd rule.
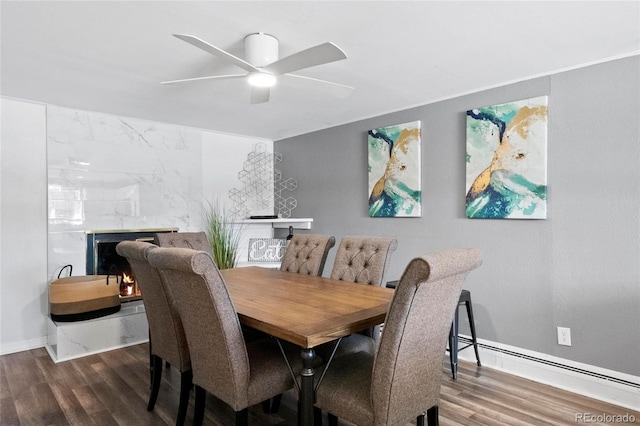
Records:
[[[157,247],[140,241],[122,241],[116,252],[127,259],[142,292],[142,301],[149,323],[149,351],[151,353],[151,394],[147,410],[153,410],[160,382],[162,364],[166,361],[180,371],[180,403],[176,425],[184,424],[191,392],[191,358],[182,321],[164,288],[155,268],[149,265],[147,256]]]

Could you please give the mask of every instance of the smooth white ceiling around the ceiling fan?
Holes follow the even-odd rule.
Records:
[[[639,1],[2,1],[1,94],[278,140],[640,53]],[[172,37],[243,57],[253,32],[280,57],[325,41],[348,59],[298,72],[347,99],[280,84],[251,105],[241,72]],[[472,107],[472,106],[470,106]]]

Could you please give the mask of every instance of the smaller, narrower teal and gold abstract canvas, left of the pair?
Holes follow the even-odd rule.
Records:
[[[420,217],[420,121],[369,130],[369,216]]]

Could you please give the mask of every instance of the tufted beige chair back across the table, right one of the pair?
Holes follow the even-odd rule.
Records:
[[[396,248],[398,241],[395,238],[344,237],[336,253],[331,278],[381,286],[391,253]]]

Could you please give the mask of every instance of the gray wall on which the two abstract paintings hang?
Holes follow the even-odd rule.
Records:
[[[466,219],[465,112],[549,96],[548,219]],[[384,102],[381,99],[380,102]],[[421,218],[369,218],[367,130],[422,121]],[[473,246],[479,337],[640,375],[640,57],[536,78],[276,141],[314,233],[398,239],[414,256]],[[335,249],[327,260],[331,272]],[[570,327],[572,346],[557,344]]]

